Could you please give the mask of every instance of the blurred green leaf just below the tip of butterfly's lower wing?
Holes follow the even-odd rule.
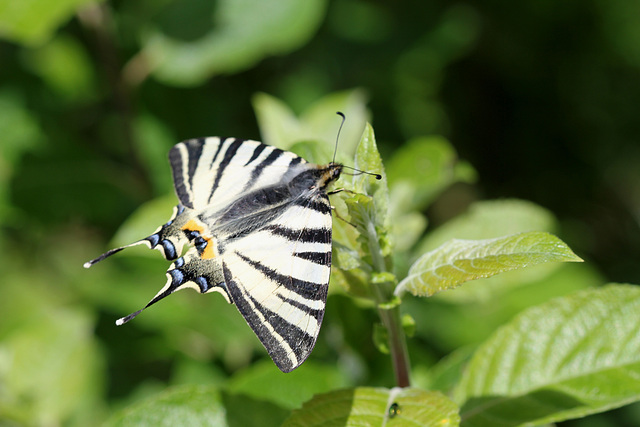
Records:
[[[234,375],[227,390],[275,403],[283,408],[294,409],[302,406],[314,394],[346,385],[345,379],[334,366],[307,361],[285,375],[268,360]]]

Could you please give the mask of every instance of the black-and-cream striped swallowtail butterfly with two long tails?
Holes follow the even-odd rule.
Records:
[[[327,186],[343,166],[218,137],[175,145],[169,162],[180,201],[169,222],[84,266],[134,245],[158,249],[173,263],[167,283],[145,308],[187,287],[219,292],[238,307],[280,370],[297,368],[311,353],[324,316],[331,269]]]

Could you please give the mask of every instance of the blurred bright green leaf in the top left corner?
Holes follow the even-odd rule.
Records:
[[[92,0],[0,2],[0,37],[26,45],[49,39],[76,10]]]

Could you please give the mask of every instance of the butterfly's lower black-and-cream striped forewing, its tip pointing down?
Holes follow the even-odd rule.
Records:
[[[326,209],[289,203],[275,221],[230,242],[222,256],[233,301],[284,372],[315,345],[330,275],[329,201],[319,192],[304,197]]]

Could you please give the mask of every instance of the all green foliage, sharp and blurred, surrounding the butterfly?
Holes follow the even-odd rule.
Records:
[[[596,270],[640,277],[637,7],[587,6],[0,1],[0,425],[637,425],[598,413],[639,400],[640,295]],[[114,325],[167,263],[81,266],[169,218],[174,143],[326,164],[336,111],[337,161],[382,179],[331,196],[303,366],[217,294]]]

